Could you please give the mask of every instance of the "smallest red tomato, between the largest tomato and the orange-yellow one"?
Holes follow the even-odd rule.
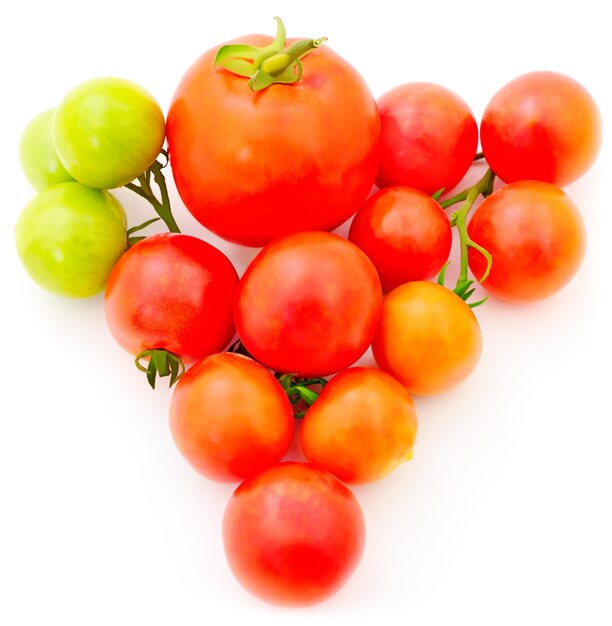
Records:
[[[410,187],[388,187],[357,211],[349,239],[370,257],[385,291],[438,274],[452,233],[442,207]]]

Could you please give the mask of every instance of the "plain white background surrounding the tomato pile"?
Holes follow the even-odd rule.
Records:
[[[21,269],[13,225],[33,192],[20,132],[79,82],[132,79],[167,110],[195,58],[229,38],[274,30],[327,35],[375,96],[426,80],[479,118],[511,78],[557,70],[582,82],[612,128],[605,3],[53,2],[3,8],[0,623],[612,623],[612,236],[609,141],[567,192],[589,235],[579,274],[529,306],[478,309],[477,371],[417,399],[414,460],[355,490],[368,541],[330,601],[277,609],[244,592],[220,527],[232,487],[196,475],[152,392],[110,337],[102,296],[63,300]],[[120,192],[130,223],[148,215]],[[186,232],[217,241],[190,218]],[[218,243],[218,241],[217,241]],[[240,272],[254,251],[223,244]],[[456,265],[457,262],[455,262]]]

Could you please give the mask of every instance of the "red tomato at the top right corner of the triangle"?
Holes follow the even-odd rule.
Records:
[[[541,180],[563,187],[595,161],[601,117],[580,83],[555,72],[531,72],[493,96],[480,134],[485,158],[506,183]]]

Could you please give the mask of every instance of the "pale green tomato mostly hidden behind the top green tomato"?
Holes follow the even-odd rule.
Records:
[[[26,127],[19,142],[21,169],[36,191],[74,180],[55,151],[51,121],[54,109],[37,115]]]

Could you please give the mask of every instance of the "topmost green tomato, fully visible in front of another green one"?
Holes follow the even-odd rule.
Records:
[[[53,116],[61,162],[76,180],[96,189],[114,189],[138,178],[158,157],[164,138],[159,104],[121,78],[82,83]]]

